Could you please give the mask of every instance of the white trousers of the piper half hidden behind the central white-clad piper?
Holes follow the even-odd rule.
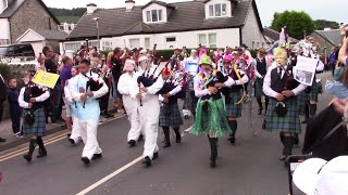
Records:
[[[139,119],[139,113],[137,109],[137,102],[132,100],[130,96],[123,96],[123,105],[127,112],[128,120],[130,123],[130,130],[127,135],[127,141],[137,141],[141,133],[141,125]]]

